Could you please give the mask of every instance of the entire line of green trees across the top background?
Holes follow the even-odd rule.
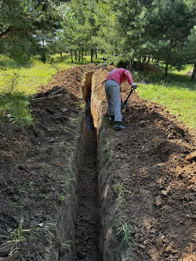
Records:
[[[32,59],[55,64],[69,52],[108,63],[134,64],[150,58],[180,69],[194,63],[196,0],[0,0],[0,67],[3,57],[20,64]],[[60,53],[60,57],[52,54]]]

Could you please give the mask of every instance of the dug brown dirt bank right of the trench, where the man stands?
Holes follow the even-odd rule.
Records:
[[[119,226],[125,221],[131,233],[128,260],[195,260],[196,132],[165,106],[136,92],[123,110],[127,129],[113,131],[104,92],[106,76],[105,70],[94,74],[92,92],[102,102],[108,122],[104,128],[113,159],[106,173],[111,173],[113,200],[119,198],[113,219],[119,218]],[[121,88],[125,99],[130,86],[124,83]]]

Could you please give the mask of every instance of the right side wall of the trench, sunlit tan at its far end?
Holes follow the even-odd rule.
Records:
[[[107,126],[104,124],[106,112],[105,102],[96,93],[96,78],[99,72],[92,77],[91,113],[97,129],[97,176],[98,176],[98,231],[99,231],[99,261],[121,261],[126,259],[127,249],[121,248],[120,236],[117,235],[119,222],[115,217],[117,202],[111,200],[111,172],[109,162],[103,153],[103,146],[107,139]]]

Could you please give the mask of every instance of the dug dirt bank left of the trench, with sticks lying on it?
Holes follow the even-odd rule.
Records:
[[[70,240],[74,239],[77,199],[68,183],[74,182],[71,161],[83,120],[81,86],[85,74],[97,69],[90,64],[54,75],[37,98],[73,84],[59,92],[62,96],[31,102],[34,125],[30,128],[9,122],[0,126],[0,241],[13,240],[6,247],[0,245],[0,257],[22,249],[12,260],[73,258]],[[63,232],[65,224],[68,230]]]

